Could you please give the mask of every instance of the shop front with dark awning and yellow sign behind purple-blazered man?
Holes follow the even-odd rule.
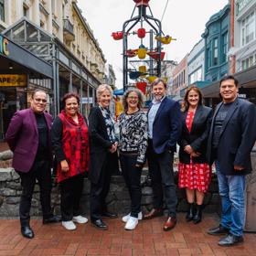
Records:
[[[51,95],[52,66],[0,34],[0,141],[18,111],[29,107],[31,92],[40,88]],[[49,97],[50,98],[50,97]],[[48,112],[52,112],[49,101]]]

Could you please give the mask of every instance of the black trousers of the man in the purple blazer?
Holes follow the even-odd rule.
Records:
[[[28,173],[18,172],[21,178],[22,194],[19,203],[19,217],[21,226],[29,225],[31,200],[36,180],[40,187],[40,202],[43,218],[52,216],[50,207],[51,173],[48,160],[36,160]]]

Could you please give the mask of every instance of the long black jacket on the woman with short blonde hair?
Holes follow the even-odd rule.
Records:
[[[106,161],[112,163],[112,172],[118,168],[117,153],[111,154],[112,142],[109,139],[107,127],[99,107],[93,107],[89,114],[90,166],[89,178],[96,184],[103,171]]]

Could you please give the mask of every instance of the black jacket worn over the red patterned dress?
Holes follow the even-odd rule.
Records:
[[[182,133],[178,142],[180,145],[180,163],[190,163],[190,155],[184,151],[184,147],[188,144],[194,149],[194,151],[200,153],[198,157],[192,157],[193,163],[203,164],[208,162],[206,158],[206,151],[211,116],[211,108],[198,105],[192,123],[191,132],[189,133],[186,124],[187,112],[182,113]]]

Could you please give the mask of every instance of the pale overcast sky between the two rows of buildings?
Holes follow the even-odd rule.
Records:
[[[167,0],[149,2],[155,18],[161,20],[166,3]],[[219,12],[228,3],[228,0],[169,0],[162,27],[165,35],[175,37],[177,40],[164,46],[165,59],[176,61],[183,59],[200,40],[209,17]],[[113,40],[111,35],[112,32],[122,30],[123,22],[132,16],[135,3],[133,0],[78,0],[78,5],[93,30],[105,59],[114,68],[117,77],[116,86],[123,87],[123,57],[121,55],[123,44],[122,40]],[[137,8],[134,14],[137,15]],[[150,14],[149,11],[147,14]],[[136,41],[133,44],[138,47],[140,42]]]

